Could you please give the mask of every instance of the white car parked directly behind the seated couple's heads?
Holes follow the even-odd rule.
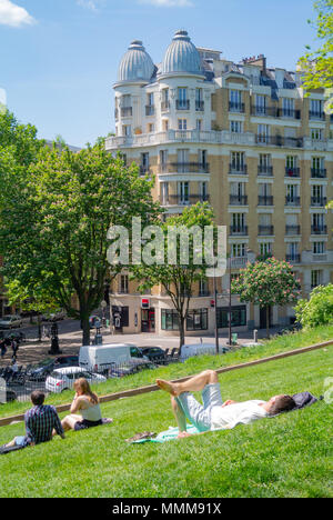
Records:
[[[49,392],[61,393],[73,388],[75,380],[80,378],[85,378],[90,384],[107,381],[107,378],[99,373],[87,372],[80,367],[67,367],[51,372],[46,381],[46,389]]]

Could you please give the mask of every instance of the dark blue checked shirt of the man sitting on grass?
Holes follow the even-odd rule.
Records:
[[[54,407],[33,407],[24,414],[26,438],[24,444],[40,444],[52,439],[53,429],[59,436],[63,434],[63,428]]]

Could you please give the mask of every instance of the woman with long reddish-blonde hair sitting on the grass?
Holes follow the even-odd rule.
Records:
[[[103,422],[99,398],[91,391],[87,379],[78,379],[74,389],[77,393],[71,406],[71,414],[61,421],[63,430],[80,431],[101,426]]]

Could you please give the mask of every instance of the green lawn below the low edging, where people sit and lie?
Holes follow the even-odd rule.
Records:
[[[223,398],[269,399],[281,392],[304,390],[320,396],[324,392],[325,378],[333,376],[332,358],[333,348],[329,347],[224,373],[220,377]],[[213,368],[213,360],[198,358],[191,369]],[[185,366],[175,366],[149,372],[144,377],[150,381],[145,380],[145,383],[178,368],[185,370]],[[121,382],[124,384],[125,381]],[[164,444],[128,444],[124,441],[140,431],[160,432],[174,426],[170,399],[164,392],[105,403],[102,412],[104,417],[112,417],[114,423],[70,432],[65,440],[57,438],[1,457],[0,496],[221,498],[333,494],[332,406],[325,401],[233,430]],[[22,433],[22,424],[0,428],[0,443]]]

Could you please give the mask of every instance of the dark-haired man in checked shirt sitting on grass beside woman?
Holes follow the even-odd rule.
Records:
[[[53,429],[64,439],[63,428],[54,407],[44,406],[46,396],[43,392],[36,390],[31,393],[31,402],[33,408],[24,414],[26,436],[16,437],[11,442],[3,448],[14,448],[40,444],[52,439]]]

